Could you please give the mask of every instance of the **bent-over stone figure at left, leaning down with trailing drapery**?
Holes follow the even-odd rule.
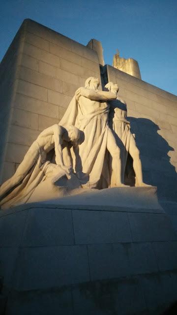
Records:
[[[0,187],[0,206],[26,203],[33,191],[46,178],[53,184],[59,178],[71,178],[72,166],[69,147],[84,140],[84,134],[74,126],[53,125],[43,130],[32,143],[15,174]],[[48,153],[55,149],[55,159],[51,162]],[[62,150],[65,149],[63,161]],[[44,199],[45,199],[44,191]]]

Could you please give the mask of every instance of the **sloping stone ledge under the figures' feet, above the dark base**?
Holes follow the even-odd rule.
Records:
[[[157,199],[156,187],[115,187],[111,189],[82,189],[75,195],[58,197],[58,192],[53,195],[54,199],[46,201],[30,201],[11,209],[0,212],[0,217],[28,210],[31,208],[58,208],[69,210],[90,211],[117,211],[135,213],[163,214],[165,211]]]

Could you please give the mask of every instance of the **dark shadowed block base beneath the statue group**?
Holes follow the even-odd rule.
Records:
[[[158,315],[176,301],[177,233],[154,188],[135,194],[154,209],[141,198],[132,207],[136,189],[129,205],[121,189],[105,189],[110,209],[98,191],[96,205],[68,198],[1,211],[5,314]]]

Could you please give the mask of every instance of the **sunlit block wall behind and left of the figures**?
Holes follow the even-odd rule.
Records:
[[[29,19],[18,33],[12,44],[18,47],[17,60],[10,59],[8,51],[2,63],[5,69],[11,60],[10,73],[14,69],[3,104],[9,119],[3,125],[8,136],[2,181],[12,176],[40,131],[59,123],[76,89],[89,76],[100,78],[97,53],[88,47]]]

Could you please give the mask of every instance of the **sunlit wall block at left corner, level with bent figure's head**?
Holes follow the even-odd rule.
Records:
[[[40,132],[38,130],[11,125],[9,142],[30,146],[32,142],[38,137],[39,133]]]

